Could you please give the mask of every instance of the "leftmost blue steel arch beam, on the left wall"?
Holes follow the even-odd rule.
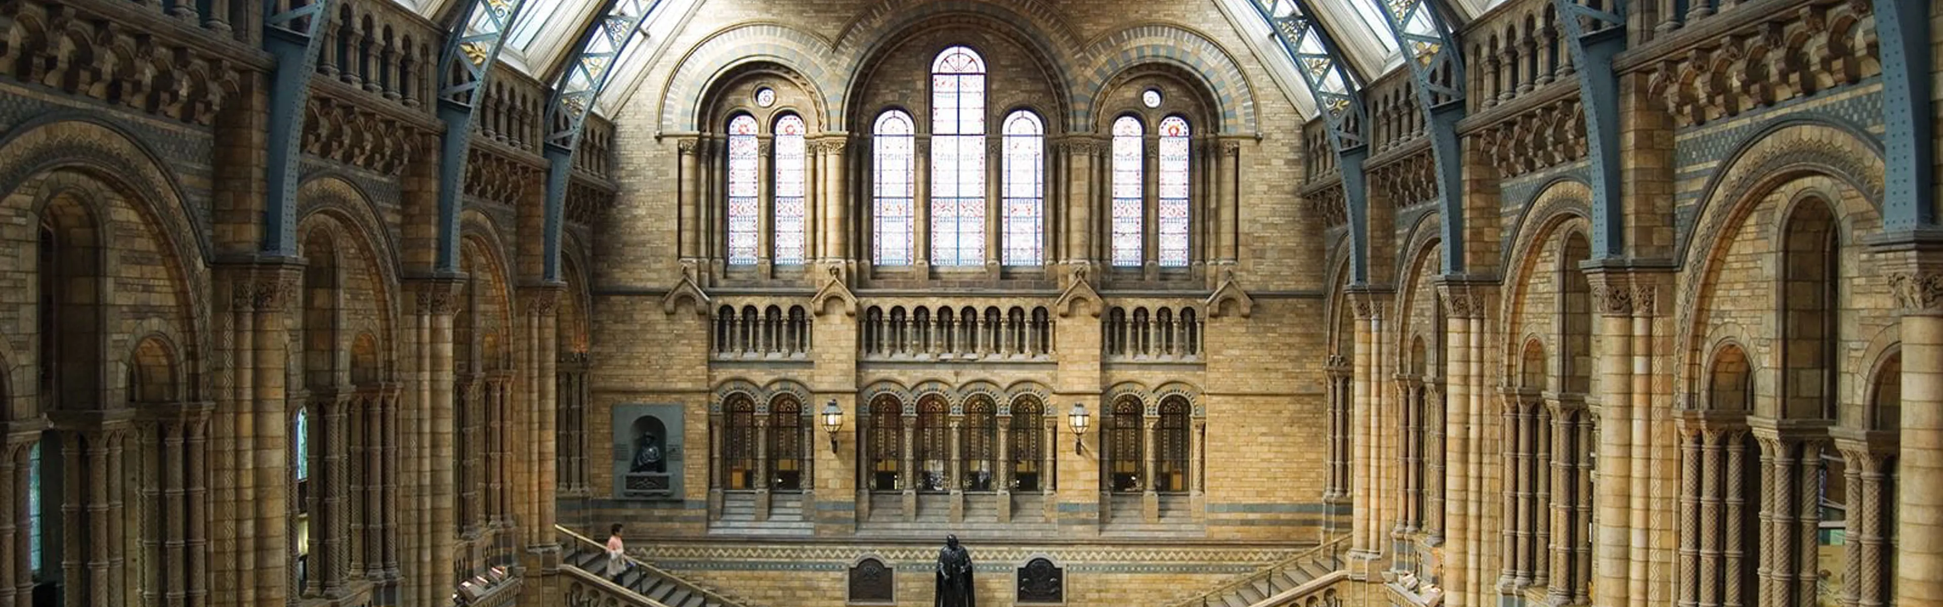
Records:
[[[266,257],[297,257],[297,160],[303,156],[303,105],[317,74],[317,35],[330,21],[334,0],[264,0],[262,49],[276,66],[270,76],[270,130],[264,146],[262,245]]]

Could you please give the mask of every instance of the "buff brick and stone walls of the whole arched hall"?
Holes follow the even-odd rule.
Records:
[[[1249,603],[1943,605],[1937,183],[1894,169],[1900,121],[1943,111],[1896,97],[1943,6],[1626,4],[1617,158],[1560,2],[1506,0],[1455,23],[1455,154],[1409,70],[1364,74],[1350,200],[1245,0],[666,2],[558,233],[554,80],[492,68],[441,268],[449,19],[328,4],[280,195],[258,6],[4,2],[0,607],[657,605],[556,529],[610,523],[744,607],[931,605],[946,531],[987,605],[1034,558],[1063,605],[1218,603],[1317,547],[1333,574]],[[954,45],[985,62],[995,167],[970,267],[929,259]],[[919,125],[911,265],[872,255],[886,109]],[[1001,263],[1016,109],[1045,125],[1034,267]],[[764,125],[750,265],[738,115]],[[781,115],[806,125],[802,265],[771,255]],[[1125,115],[1150,125],[1137,267],[1109,263]],[[1179,268],[1154,263],[1164,117],[1193,126]],[[678,411],[676,494],[628,490],[645,411]],[[851,601],[865,560],[892,601]]]

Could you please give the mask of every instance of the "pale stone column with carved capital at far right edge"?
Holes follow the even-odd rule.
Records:
[[[1943,272],[1910,251],[1889,274],[1902,311],[1902,444],[1896,449],[1894,605],[1943,605]]]

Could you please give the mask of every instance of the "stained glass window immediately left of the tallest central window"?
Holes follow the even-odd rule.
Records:
[[[870,196],[872,208],[870,261],[876,265],[911,265],[911,115],[886,111],[870,130]]]

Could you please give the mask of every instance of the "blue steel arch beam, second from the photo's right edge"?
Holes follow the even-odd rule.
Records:
[[[1613,56],[1626,51],[1626,0],[1607,0],[1599,10],[1582,0],[1552,0],[1558,25],[1580,78],[1585,109],[1585,144],[1591,156],[1591,259],[1626,251],[1626,214],[1619,202],[1619,72]]]

